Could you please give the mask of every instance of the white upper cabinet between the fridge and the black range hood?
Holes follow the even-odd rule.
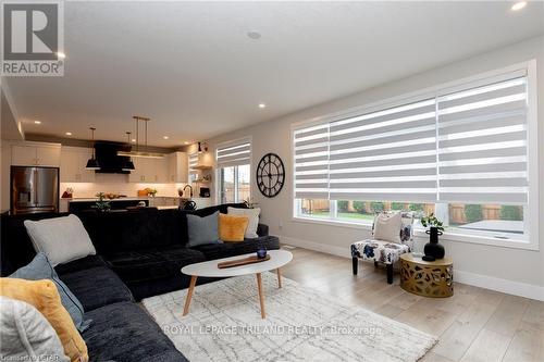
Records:
[[[86,170],[87,161],[92,157],[92,149],[62,147],[61,183],[94,183],[95,171]]]

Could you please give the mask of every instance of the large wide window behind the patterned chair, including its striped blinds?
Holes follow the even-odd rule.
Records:
[[[450,234],[528,242],[537,221],[530,82],[529,67],[497,72],[295,128],[295,216],[371,224],[375,212],[411,210],[435,213]]]

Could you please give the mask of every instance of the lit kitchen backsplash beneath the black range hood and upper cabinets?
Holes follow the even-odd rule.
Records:
[[[71,187],[74,198],[94,198],[97,192],[111,192],[138,196],[138,190],[146,187],[156,188],[157,196],[177,196],[177,189],[185,184],[135,184],[128,183],[127,175],[121,174],[96,174],[94,183],[60,183],[60,195]],[[188,191],[187,191],[188,192]]]

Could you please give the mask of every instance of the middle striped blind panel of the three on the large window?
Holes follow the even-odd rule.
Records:
[[[330,198],[434,200],[435,111],[431,99],[332,123]]]

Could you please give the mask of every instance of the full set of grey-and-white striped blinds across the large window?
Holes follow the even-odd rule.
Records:
[[[528,202],[527,76],[294,130],[295,197]]]

